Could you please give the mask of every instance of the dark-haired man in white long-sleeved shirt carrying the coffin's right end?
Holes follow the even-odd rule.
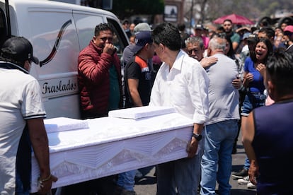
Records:
[[[188,158],[156,166],[157,194],[197,194],[200,182],[203,124],[208,119],[209,78],[200,63],[180,50],[180,33],[171,23],[162,23],[153,31],[155,52],[163,61],[153,88],[154,106],[173,106],[193,119],[193,134],[187,146]]]

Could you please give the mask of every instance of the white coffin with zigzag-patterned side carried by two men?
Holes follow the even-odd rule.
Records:
[[[142,109],[150,111],[149,107],[137,108],[137,111],[142,112]],[[158,108],[154,110],[155,113],[149,112],[151,117],[133,114],[136,119],[129,113],[128,119],[119,118],[121,113],[109,113],[115,117],[88,119],[86,125],[82,121],[88,127],[86,129],[54,129],[48,133],[51,172],[58,177],[52,188],[187,157],[185,150],[193,131],[193,121],[172,110],[166,112],[163,109],[161,115]],[[126,112],[129,110],[125,109]],[[54,119],[48,120],[45,125],[52,126]],[[56,118],[55,121],[55,126],[62,129],[62,121],[71,119]],[[72,122],[76,123],[76,120]],[[31,192],[38,191],[39,175],[33,155]]]

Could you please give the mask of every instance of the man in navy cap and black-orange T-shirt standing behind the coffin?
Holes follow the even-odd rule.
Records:
[[[139,31],[135,35],[135,45],[132,47],[134,57],[125,66],[125,107],[149,105],[151,95],[151,71],[148,61],[154,56],[151,31]],[[136,194],[134,177],[136,170],[118,175],[115,194]]]

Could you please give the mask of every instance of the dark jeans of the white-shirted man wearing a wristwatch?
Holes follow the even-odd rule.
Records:
[[[202,131],[205,137],[205,131]],[[204,138],[199,145],[203,146]],[[157,195],[197,195],[200,184],[200,161],[202,146],[194,158],[182,158],[156,165],[156,194]]]

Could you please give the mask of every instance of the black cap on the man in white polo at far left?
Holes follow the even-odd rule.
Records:
[[[33,45],[25,37],[11,37],[6,40],[1,48],[1,57],[19,62],[29,60],[39,64],[38,58],[33,56]]]

